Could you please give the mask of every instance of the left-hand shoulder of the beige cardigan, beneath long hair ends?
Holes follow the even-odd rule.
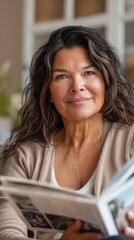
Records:
[[[15,153],[9,157],[4,167],[5,175],[39,179],[42,166],[51,161],[53,146],[44,147],[37,142],[19,144]]]

